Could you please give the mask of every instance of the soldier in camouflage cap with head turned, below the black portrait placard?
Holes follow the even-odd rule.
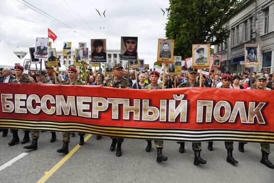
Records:
[[[113,74],[114,74],[114,76],[106,81],[105,86],[113,87],[113,88],[129,88],[129,87],[127,87],[127,84],[128,84],[127,80],[124,79],[124,77],[123,77],[124,68],[123,68],[122,64],[114,65]],[[110,150],[114,151],[116,148],[116,144],[117,144],[116,156],[117,157],[122,156],[121,146],[122,146],[124,139],[123,138],[114,138],[114,137],[111,137],[111,139],[112,139],[112,144],[111,144]]]

